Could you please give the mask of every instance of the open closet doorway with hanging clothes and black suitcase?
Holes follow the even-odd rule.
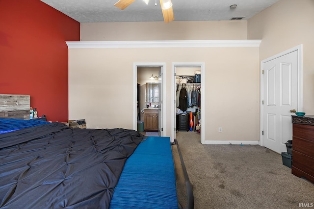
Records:
[[[197,74],[197,76],[195,76],[195,74]],[[180,134],[192,131],[195,135],[200,136],[201,143],[205,141],[205,130],[202,129],[202,126],[205,127],[204,87],[205,63],[172,64],[172,101],[174,102],[171,113],[173,130],[171,139],[176,139],[177,131],[180,131]],[[182,91],[182,89],[184,91]],[[182,99],[183,92],[186,93],[186,100]],[[185,102],[187,102],[186,107]]]

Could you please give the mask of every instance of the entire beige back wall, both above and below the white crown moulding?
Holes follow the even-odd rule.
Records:
[[[81,41],[223,39],[247,39],[247,21],[81,24]],[[69,117],[85,118],[87,128],[132,129],[133,64],[149,62],[166,63],[164,136],[172,63],[204,62],[205,140],[259,140],[259,47],[70,48]]]

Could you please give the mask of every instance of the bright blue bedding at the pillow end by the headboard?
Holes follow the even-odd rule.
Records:
[[[43,120],[0,118],[0,134],[49,123]]]

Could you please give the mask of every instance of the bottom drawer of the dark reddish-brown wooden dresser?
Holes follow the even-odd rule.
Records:
[[[292,164],[294,167],[304,171],[305,173],[310,175],[314,174],[314,158],[310,156],[293,150]]]

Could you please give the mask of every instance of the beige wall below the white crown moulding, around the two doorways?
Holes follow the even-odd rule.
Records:
[[[69,117],[88,128],[132,129],[133,63],[165,62],[171,136],[171,64],[196,61],[206,66],[206,140],[258,140],[258,47],[69,49]]]

